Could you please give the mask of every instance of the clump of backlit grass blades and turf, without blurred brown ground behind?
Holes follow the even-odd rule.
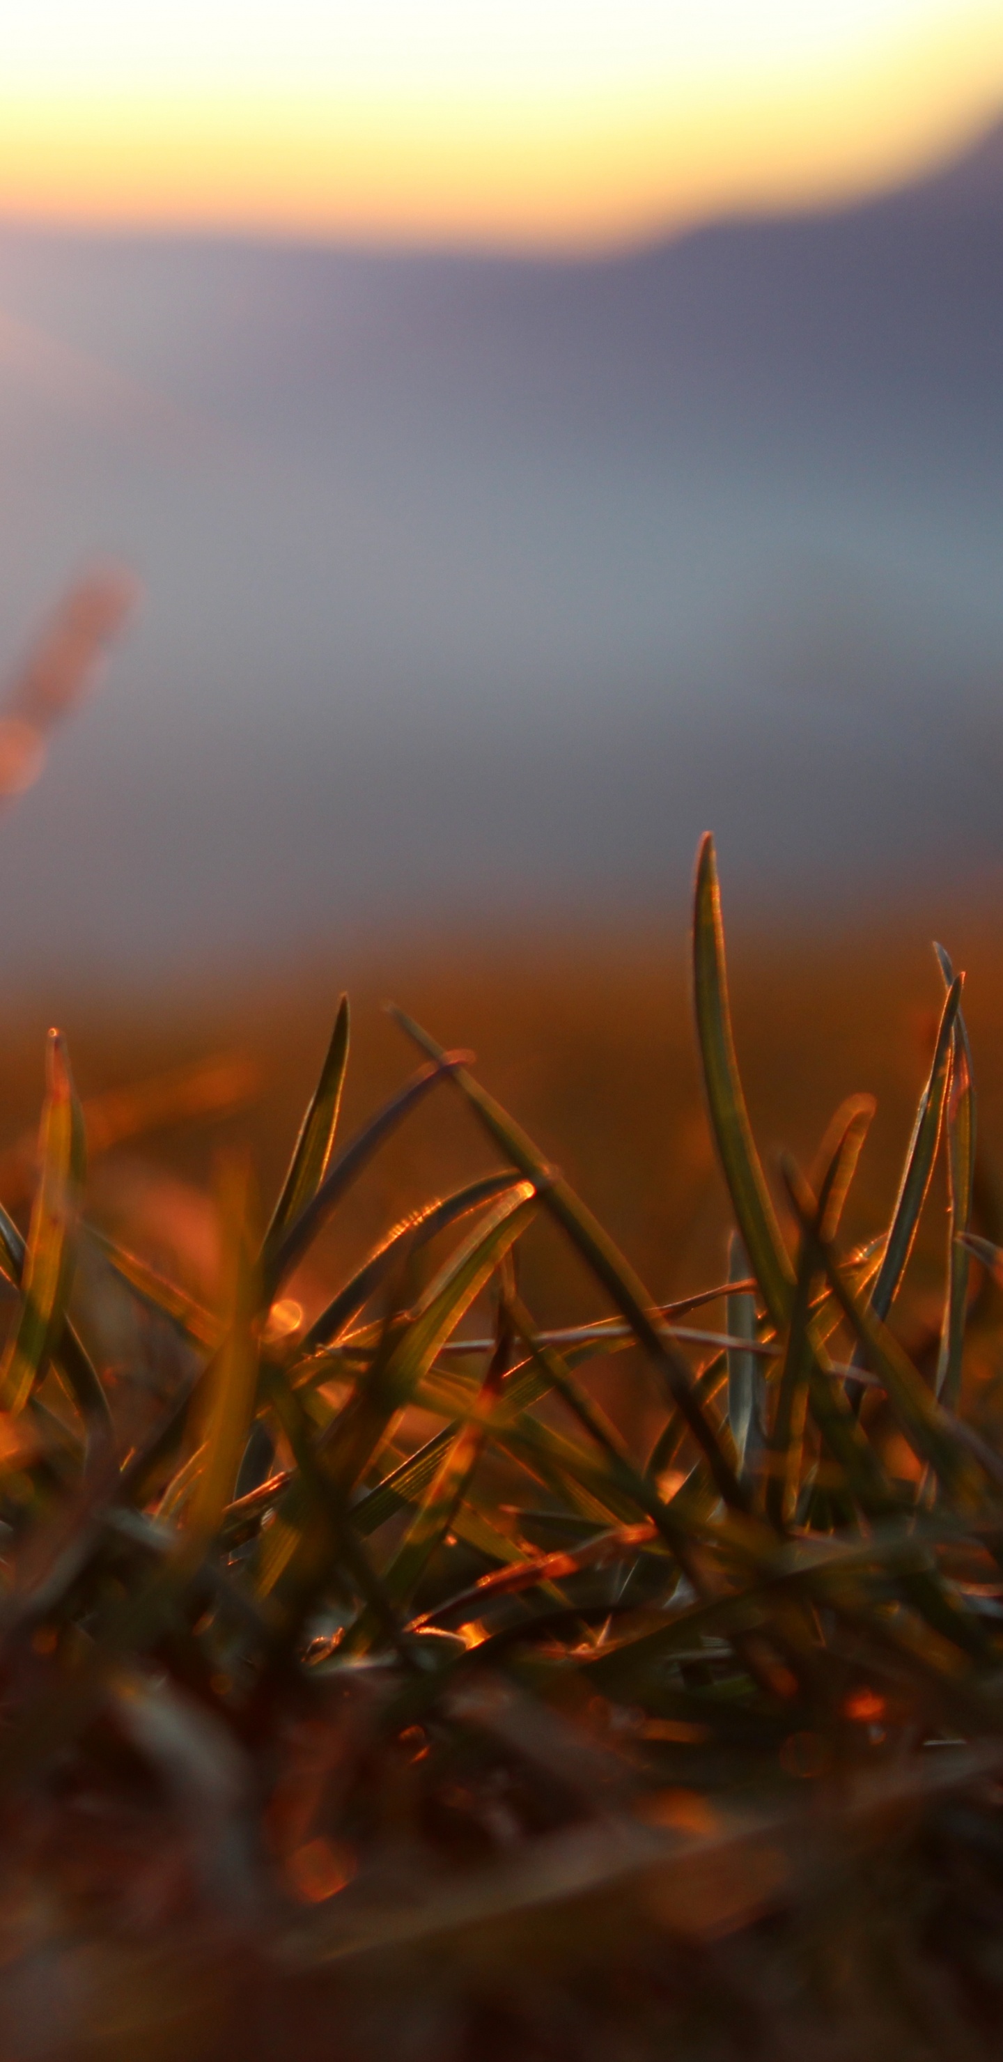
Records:
[[[4,2056],[995,2052],[1003,1256],[972,1231],[939,969],[892,1221],[844,1252],[873,1103],[813,1169],[780,1163],[778,1208],[706,841],[693,994],[735,1235],[673,1305],[400,1012],[421,1066],[341,1144],[343,1002],[264,1227],[223,1171],[204,1307],[87,1223],[52,1035],[27,1237],[0,1217]],[[303,1326],[320,1231],[448,1093],[483,1175]],[[939,1155],[943,1311],[910,1355]],[[594,1283],[588,1324],[526,1307],[539,1219]],[[114,1371],[101,1299],[142,1340]],[[658,1388],[644,1450],[590,1388],[615,1355]]]

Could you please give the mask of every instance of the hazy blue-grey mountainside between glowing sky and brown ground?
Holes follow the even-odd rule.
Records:
[[[122,557],[2,979],[986,903],[1003,130],[598,258],[0,227],[0,647]]]

